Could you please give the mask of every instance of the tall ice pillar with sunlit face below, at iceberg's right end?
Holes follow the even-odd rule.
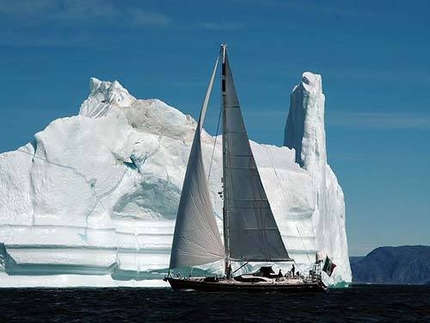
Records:
[[[284,144],[294,149],[296,163],[312,178],[315,188],[312,223],[316,243],[320,250],[335,259],[335,263],[342,262],[336,269],[337,275],[350,279],[345,202],[336,175],[327,164],[324,102],[321,76],[303,73],[301,82],[291,93]]]

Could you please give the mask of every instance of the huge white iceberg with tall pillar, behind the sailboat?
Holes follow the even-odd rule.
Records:
[[[322,250],[338,265],[331,282],[348,282],[343,193],[327,165],[323,114],[321,79],[305,73],[287,121],[294,150],[252,148],[290,255],[307,270]],[[79,115],[0,154],[1,285],[148,286],[162,278],[195,126],[159,100],[91,79]],[[214,142],[203,133],[207,169]],[[218,218],[221,159],[218,140],[209,183]]]

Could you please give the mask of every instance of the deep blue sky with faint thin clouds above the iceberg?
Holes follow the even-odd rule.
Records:
[[[0,152],[76,115],[90,77],[197,118],[227,42],[257,142],[283,144],[294,85],[322,75],[350,255],[430,245],[429,12],[427,0],[0,0]]]

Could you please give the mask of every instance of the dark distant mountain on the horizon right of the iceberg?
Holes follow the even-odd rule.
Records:
[[[351,257],[354,283],[430,284],[430,246],[380,247]]]

